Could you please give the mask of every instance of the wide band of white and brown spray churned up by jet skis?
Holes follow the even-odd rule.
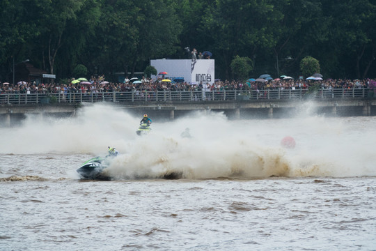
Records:
[[[309,109],[312,109],[311,106]],[[120,155],[107,172],[114,178],[264,178],[269,176],[375,175],[375,117],[228,121],[215,112],[192,112],[153,123],[149,135],[139,120],[111,105],[88,105],[69,119],[28,116],[19,128],[1,128],[0,153],[104,153]],[[189,128],[191,138],[180,134]],[[280,146],[294,137],[295,149]]]

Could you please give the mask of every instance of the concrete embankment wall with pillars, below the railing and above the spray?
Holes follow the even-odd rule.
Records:
[[[134,116],[150,114],[155,121],[178,119],[191,112],[223,112],[228,119],[279,119],[299,114],[322,116],[376,116],[376,99],[330,100],[251,100],[251,101],[195,101],[195,102],[105,102],[116,109],[124,109]],[[94,103],[58,103],[37,105],[1,105],[0,126],[17,126],[28,114],[58,118],[76,116],[83,105]]]

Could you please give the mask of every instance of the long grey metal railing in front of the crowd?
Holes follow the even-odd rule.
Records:
[[[366,98],[369,89],[322,89],[313,94],[308,89],[276,89],[252,91],[125,91],[106,93],[5,93],[0,94],[4,104],[54,104],[67,102],[178,102],[178,101],[231,101],[231,100],[297,100],[308,95],[315,99]],[[312,95],[312,96],[311,96]]]

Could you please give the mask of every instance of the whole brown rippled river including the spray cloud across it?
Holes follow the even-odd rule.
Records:
[[[375,116],[198,112],[139,137],[141,116],[91,105],[0,128],[0,250],[376,250]],[[112,180],[81,180],[108,146]]]

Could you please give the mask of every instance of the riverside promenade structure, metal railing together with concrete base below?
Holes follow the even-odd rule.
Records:
[[[148,113],[156,121],[193,111],[224,112],[228,119],[285,118],[307,111],[323,116],[375,116],[375,96],[369,89],[8,93],[0,94],[0,126],[13,126],[26,114],[76,116],[84,105],[99,102],[136,116]]]

